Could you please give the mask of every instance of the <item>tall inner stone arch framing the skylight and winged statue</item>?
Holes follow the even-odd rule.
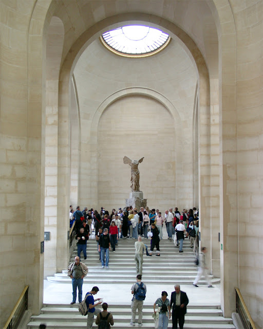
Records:
[[[70,51],[65,57],[64,63],[61,68],[60,74],[60,107],[59,113],[61,113],[61,120],[59,120],[59,132],[63,132],[63,136],[59,136],[59,168],[61,169],[58,175],[58,194],[61,199],[58,201],[58,204],[63,205],[68,204],[68,193],[67,189],[68,184],[65,181],[68,181],[70,164],[68,162],[68,157],[70,150],[69,145],[69,136],[68,131],[68,122],[69,122],[69,104],[70,104],[70,93],[69,93],[69,81],[72,75],[74,66],[76,65],[79,57],[86,47],[96,38],[98,38],[101,33],[103,33],[108,28],[114,28],[119,23],[136,23],[136,22],[147,22],[147,24],[154,27],[161,27],[164,31],[167,31],[173,38],[176,38],[182,45],[183,49],[186,51],[190,59],[192,60],[194,67],[197,71],[198,77],[198,108],[199,108],[199,134],[200,134],[200,145],[202,148],[202,153],[199,156],[199,188],[202,184],[202,189],[208,190],[210,188],[210,82],[209,82],[209,73],[206,67],[202,53],[198,49],[195,42],[190,38],[190,36],[180,29],[175,24],[168,22],[164,19],[161,19],[155,15],[148,15],[142,13],[132,13],[132,14],[122,14],[108,17],[107,19],[102,20],[101,22],[96,23],[86,32],[84,32],[80,38],[73,44]],[[59,115],[60,118],[60,115]],[[92,137],[93,138],[93,137]],[[92,166],[92,175],[93,172],[96,172],[94,166]],[[60,186],[62,189],[60,190]],[[96,189],[96,186],[92,185],[92,190]],[[202,194],[201,194],[202,193]],[[202,205],[201,212],[210,218],[211,214],[211,198],[204,195],[203,191],[199,192],[200,203]],[[66,212],[61,212],[60,221],[65,221],[67,217]],[[204,220],[203,220],[203,223]],[[211,245],[210,235],[208,237],[207,246]],[[66,264],[65,264],[66,265]],[[64,265],[64,267],[65,267]],[[59,270],[61,270],[59,268]],[[212,268],[212,265],[211,265]]]

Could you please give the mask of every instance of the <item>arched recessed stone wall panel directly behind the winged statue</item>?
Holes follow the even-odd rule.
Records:
[[[174,119],[158,101],[124,97],[102,114],[98,134],[98,200],[111,210],[129,197],[130,166],[123,157],[139,160],[140,190],[150,208],[175,205],[176,161]]]

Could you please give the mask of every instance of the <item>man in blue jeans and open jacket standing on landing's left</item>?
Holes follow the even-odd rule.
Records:
[[[75,304],[77,299],[77,287],[79,290],[79,303],[82,302],[82,285],[83,278],[88,274],[88,268],[84,263],[80,262],[78,256],[75,257],[75,261],[68,266],[68,277],[70,277],[72,282],[72,302],[70,304]]]

